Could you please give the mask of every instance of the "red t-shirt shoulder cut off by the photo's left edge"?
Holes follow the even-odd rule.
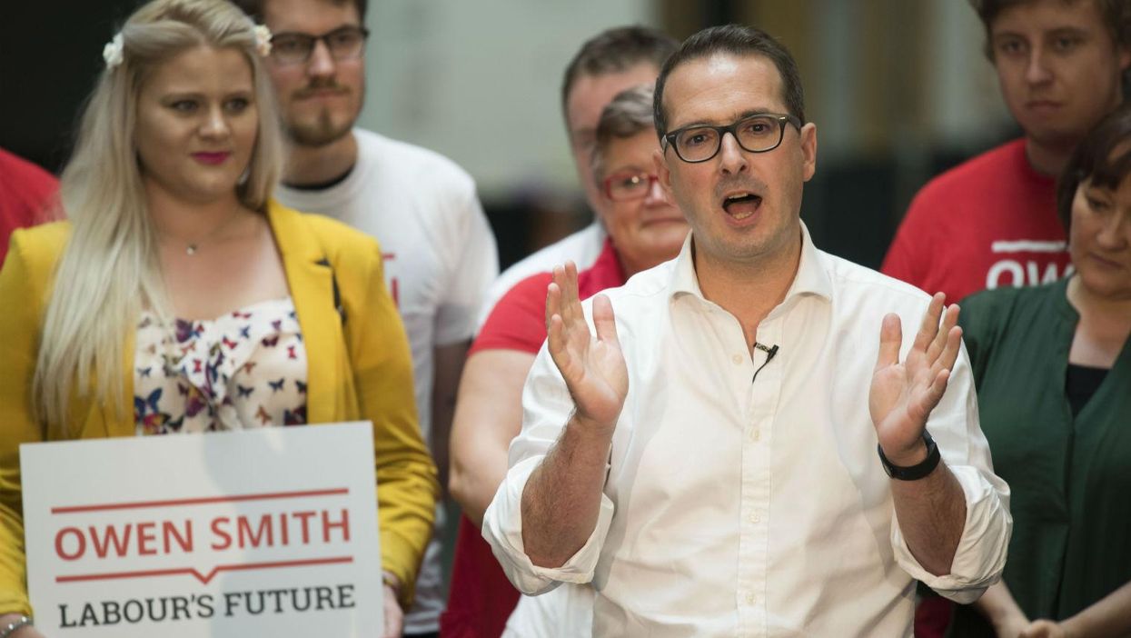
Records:
[[[0,265],[12,231],[51,218],[49,206],[57,192],[54,175],[0,148]]]

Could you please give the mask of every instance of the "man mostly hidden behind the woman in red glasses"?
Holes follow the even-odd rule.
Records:
[[[615,27],[587,40],[566,67],[566,76],[562,78],[566,132],[569,135],[578,180],[585,188],[585,200],[592,210],[599,209],[601,200],[601,193],[593,184],[590,162],[601,112],[618,93],[641,84],[653,84],[661,64],[675,51],[676,44],[655,29],[641,26]],[[503,270],[491,285],[480,316],[480,325],[507,291],[530,275],[549,273],[567,260],[573,260],[582,270],[592,266],[601,253],[606,236],[601,218],[595,217],[585,229]]]

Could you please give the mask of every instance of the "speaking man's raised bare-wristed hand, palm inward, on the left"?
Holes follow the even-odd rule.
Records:
[[[589,333],[577,292],[577,266],[567,261],[553,270],[546,291],[546,331],[550,356],[566,379],[577,417],[602,428],[613,428],[629,391],[629,373],[616,339],[616,321],[608,298],[593,300]]]

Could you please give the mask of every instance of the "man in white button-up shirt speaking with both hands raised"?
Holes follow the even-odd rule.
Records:
[[[1012,523],[958,309],[813,245],[789,53],[700,32],[656,129],[692,232],[592,303],[555,269],[483,527],[508,577],[592,583],[595,636],[910,636],[915,579],[976,598]]]

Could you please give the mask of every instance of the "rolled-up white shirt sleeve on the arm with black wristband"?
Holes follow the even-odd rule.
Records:
[[[966,499],[966,523],[950,574],[934,576],[907,548],[899,525],[891,526],[891,544],[899,566],[940,595],[957,603],[976,601],[1001,579],[1013,529],[1009,485],[993,472],[990,445],[978,424],[977,396],[964,347],[947,394],[927,421],[942,459],[958,480]]]

